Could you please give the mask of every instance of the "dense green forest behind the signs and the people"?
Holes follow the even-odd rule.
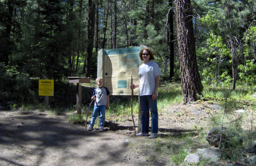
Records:
[[[195,44],[202,85],[255,87],[256,2],[186,2],[194,34],[188,43]],[[96,78],[99,49],[146,45],[155,53],[161,81],[180,80],[175,3],[1,0],[0,102],[42,103],[38,79],[54,79],[51,104],[65,104],[68,76]]]

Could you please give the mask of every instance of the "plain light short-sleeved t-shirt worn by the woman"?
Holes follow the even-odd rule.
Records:
[[[146,64],[141,64],[139,67],[139,80],[140,89],[139,95],[152,95],[155,90],[156,76],[160,76],[162,73],[156,62],[149,61]]]

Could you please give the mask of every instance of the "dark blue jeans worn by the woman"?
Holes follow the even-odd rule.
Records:
[[[151,100],[152,95],[140,96],[141,132],[149,132],[149,111],[151,112],[151,132],[158,132],[157,99]]]

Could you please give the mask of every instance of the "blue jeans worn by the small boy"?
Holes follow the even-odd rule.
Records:
[[[95,123],[95,120],[98,116],[98,113],[100,111],[100,116],[99,116],[99,119],[100,119],[100,126],[104,127],[104,122],[105,122],[105,109],[106,109],[106,106],[105,105],[100,105],[100,106],[97,106],[95,105],[94,108],[93,108],[93,113],[92,113],[92,120],[91,120],[91,123],[90,125],[93,126],[94,123]]]

